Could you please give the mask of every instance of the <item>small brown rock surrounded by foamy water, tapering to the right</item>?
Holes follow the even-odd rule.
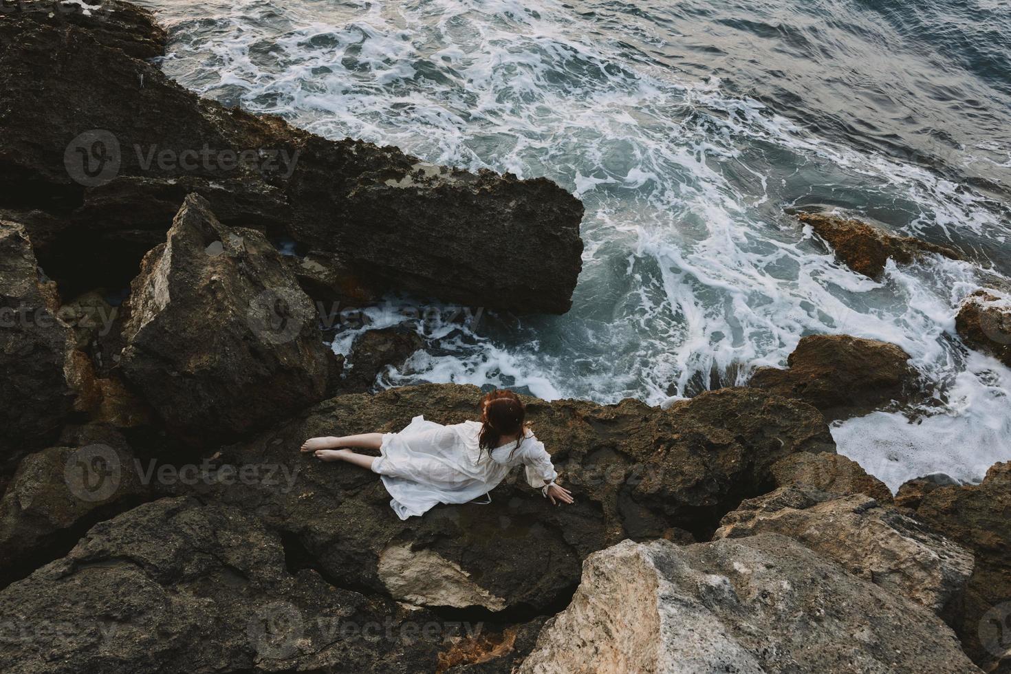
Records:
[[[913,236],[896,236],[859,220],[822,213],[800,213],[797,217],[828,242],[843,264],[872,279],[882,275],[889,258],[904,265],[926,255],[962,260],[961,254],[953,249]]]

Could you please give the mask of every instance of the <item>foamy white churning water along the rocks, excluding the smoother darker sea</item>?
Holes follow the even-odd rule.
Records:
[[[890,264],[871,281],[783,212],[860,194],[909,233],[1003,240],[1007,222],[971,189],[815,137],[715,78],[684,79],[558,2],[156,6],[172,28],[167,72],[201,93],[430,162],[545,175],[583,200],[572,311],[489,315],[471,328],[410,321],[430,348],[381,385],[656,404],[743,383],[754,367],[782,365],[804,334],[846,332],[906,349],[938,406],[915,425],[899,414],[850,420],[833,430],[843,454],[893,487],[924,472],[971,479],[1011,458],[1000,395],[1011,373],[967,356],[953,327],[961,299],[999,275],[937,259]],[[401,304],[370,310],[373,326],[400,321]]]

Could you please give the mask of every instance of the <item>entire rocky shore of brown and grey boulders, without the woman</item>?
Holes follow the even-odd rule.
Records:
[[[417,334],[346,362],[321,304],[562,313],[582,205],[200,99],[150,12],[57,4],[0,13],[0,671],[1011,672],[1011,463],[893,494],[836,452],[922,395],[895,345],[808,335],[665,408],[527,397],[567,507],[514,475],[401,521],[299,455],[480,395],[375,391]],[[961,255],[799,219],[866,276]],[[956,330],[1011,365],[1006,299]]]

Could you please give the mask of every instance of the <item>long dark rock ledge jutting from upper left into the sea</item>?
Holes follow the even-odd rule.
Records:
[[[0,208],[61,216],[33,221],[65,292],[125,285],[196,192],[228,225],[346,261],[330,288],[349,283],[354,301],[397,290],[516,312],[569,308],[582,205],[556,184],[437,167],[201,100],[110,46],[117,24],[102,25],[98,34],[33,14],[0,23]]]

